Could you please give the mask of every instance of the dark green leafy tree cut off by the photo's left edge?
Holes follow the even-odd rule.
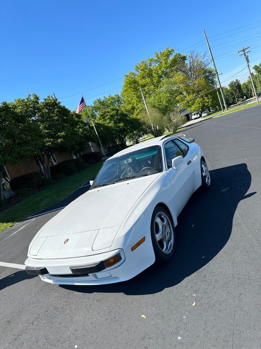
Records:
[[[2,102],[0,106],[0,200],[3,200],[3,171],[6,164],[17,165],[33,156],[38,149],[35,123],[39,98],[36,95]]]

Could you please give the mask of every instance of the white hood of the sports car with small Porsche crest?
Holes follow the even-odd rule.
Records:
[[[29,255],[73,258],[110,250],[128,212],[159,174],[89,190],[42,227]]]

